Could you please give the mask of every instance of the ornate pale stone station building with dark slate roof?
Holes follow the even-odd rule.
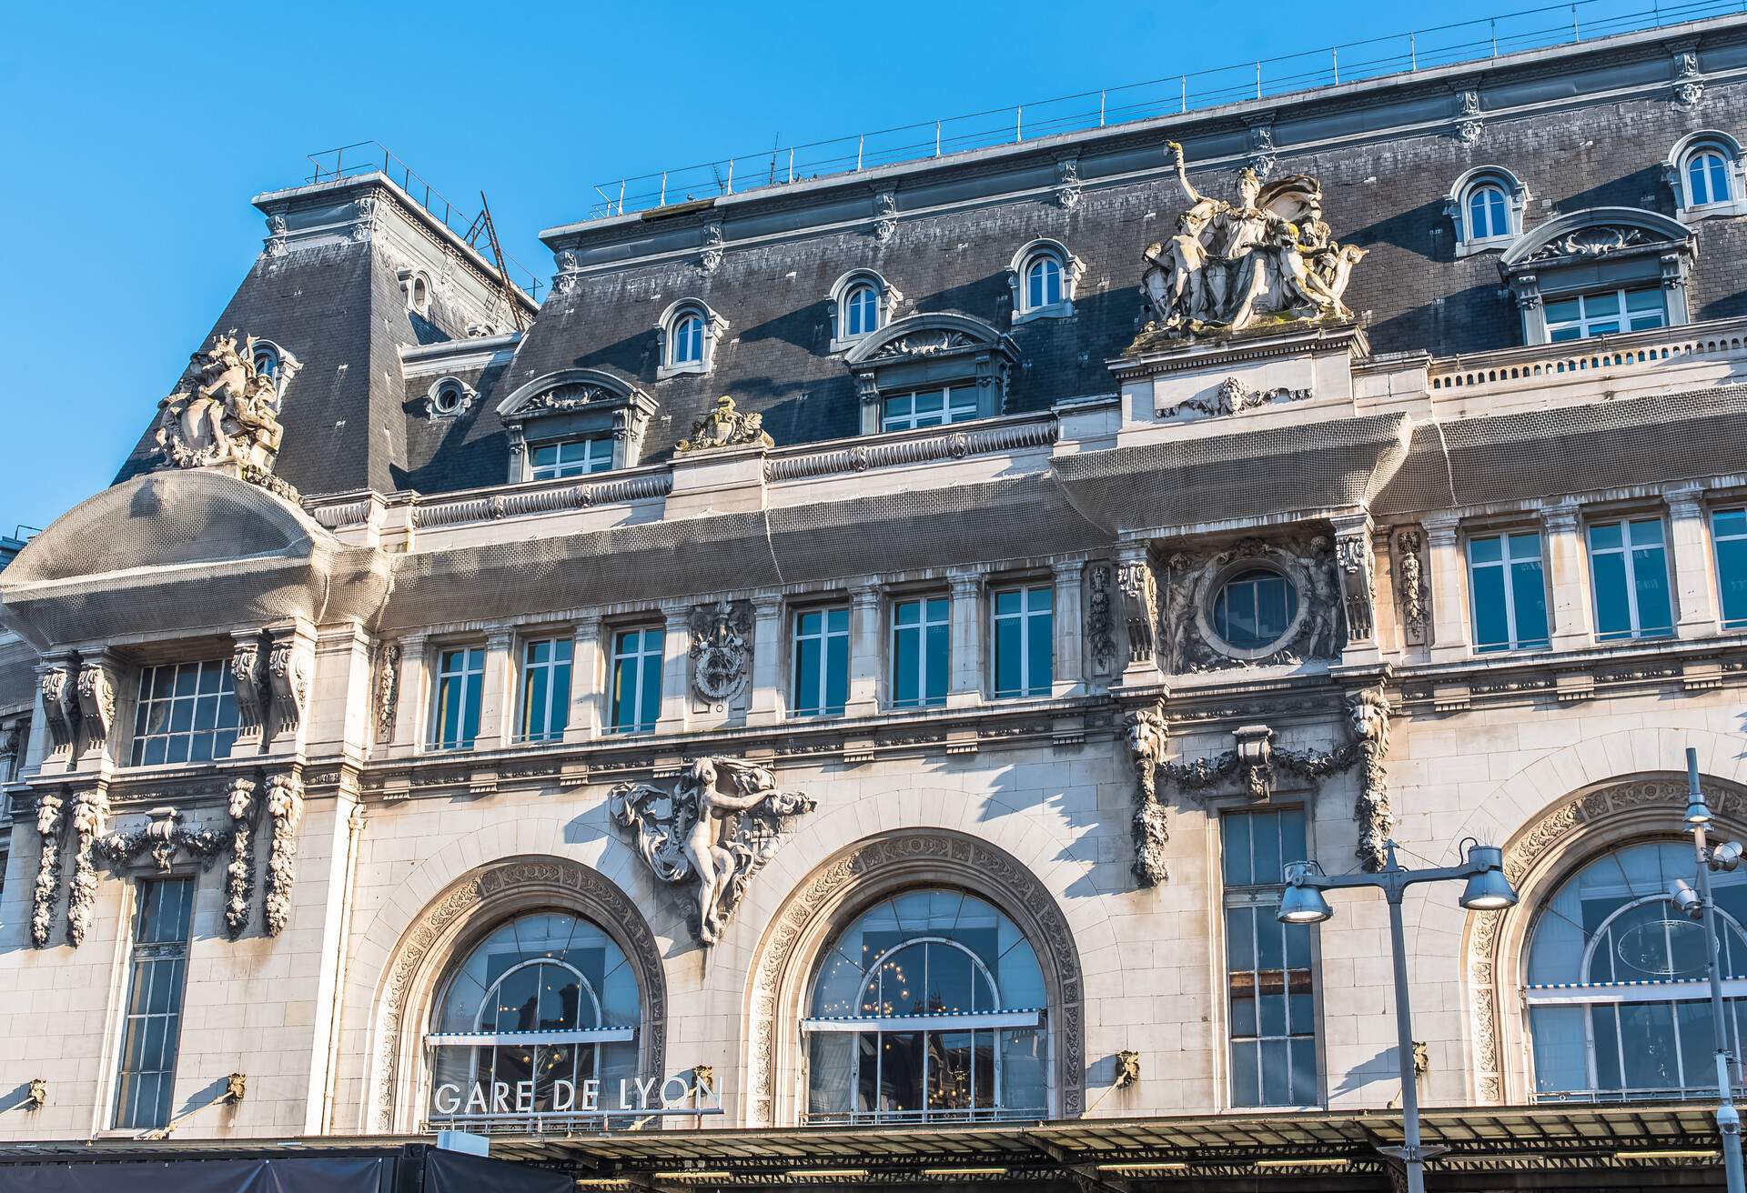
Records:
[[[0,1137],[1389,1188],[1385,907],[1281,870],[1474,838],[1434,1188],[1716,1183],[1744,129],[1719,17],[564,225],[538,307],[257,197],[0,573]]]

